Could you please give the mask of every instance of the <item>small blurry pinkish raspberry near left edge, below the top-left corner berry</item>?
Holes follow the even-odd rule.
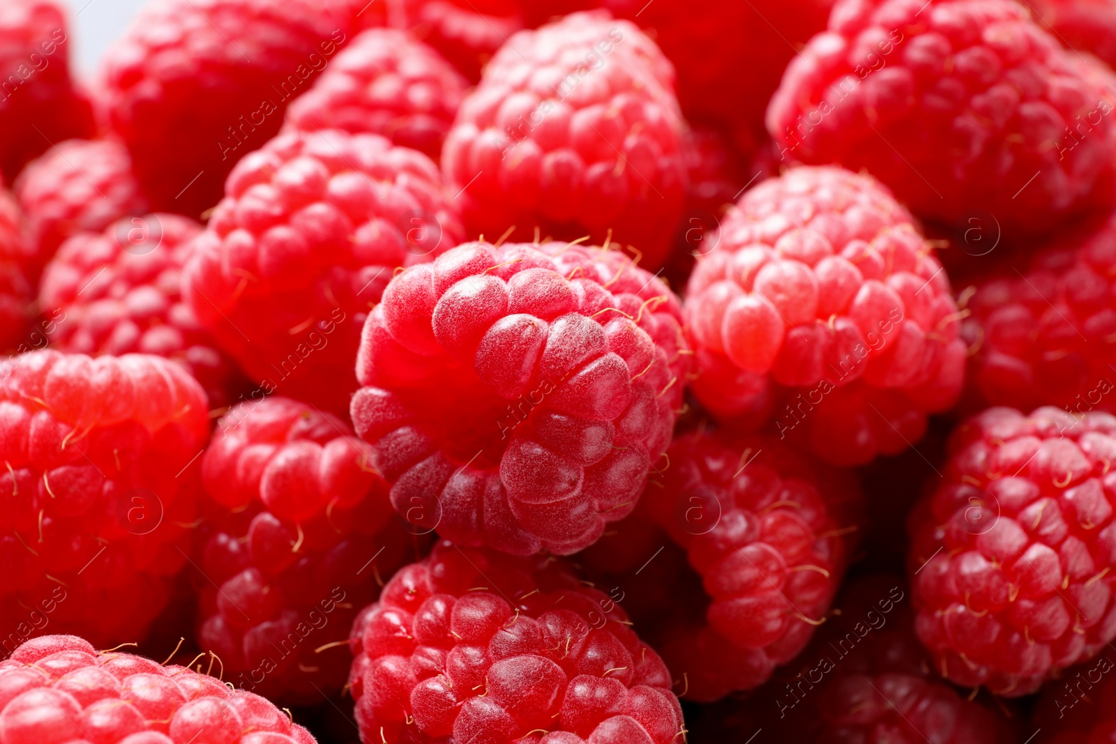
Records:
[[[51,147],[23,168],[15,191],[36,272],[70,235],[100,232],[147,212],[132,157],[114,139],[69,139]]]

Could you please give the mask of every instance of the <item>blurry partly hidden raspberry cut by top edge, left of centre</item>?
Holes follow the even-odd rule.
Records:
[[[470,83],[508,37],[523,28],[519,0],[396,0],[388,22],[442,52]]]

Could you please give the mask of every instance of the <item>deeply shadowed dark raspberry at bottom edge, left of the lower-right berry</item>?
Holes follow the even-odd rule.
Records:
[[[1003,715],[933,676],[914,635],[902,580],[869,576],[854,581],[839,607],[840,613],[771,686],[695,722],[687,741],[744,741],[757,728],[763,731],[758,744],[1009,744],[1026,738]]]

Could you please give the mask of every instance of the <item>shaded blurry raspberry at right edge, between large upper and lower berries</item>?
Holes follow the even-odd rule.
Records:
[[[1114,263],[1116,215],[962,291],[970,402],[1116,412]]]

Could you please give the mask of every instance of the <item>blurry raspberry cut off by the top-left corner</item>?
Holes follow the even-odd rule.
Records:
[[[65,6],[0,7],[0,173],[10,184],[51,143],[93,134],[93,106],[70,79]]]

